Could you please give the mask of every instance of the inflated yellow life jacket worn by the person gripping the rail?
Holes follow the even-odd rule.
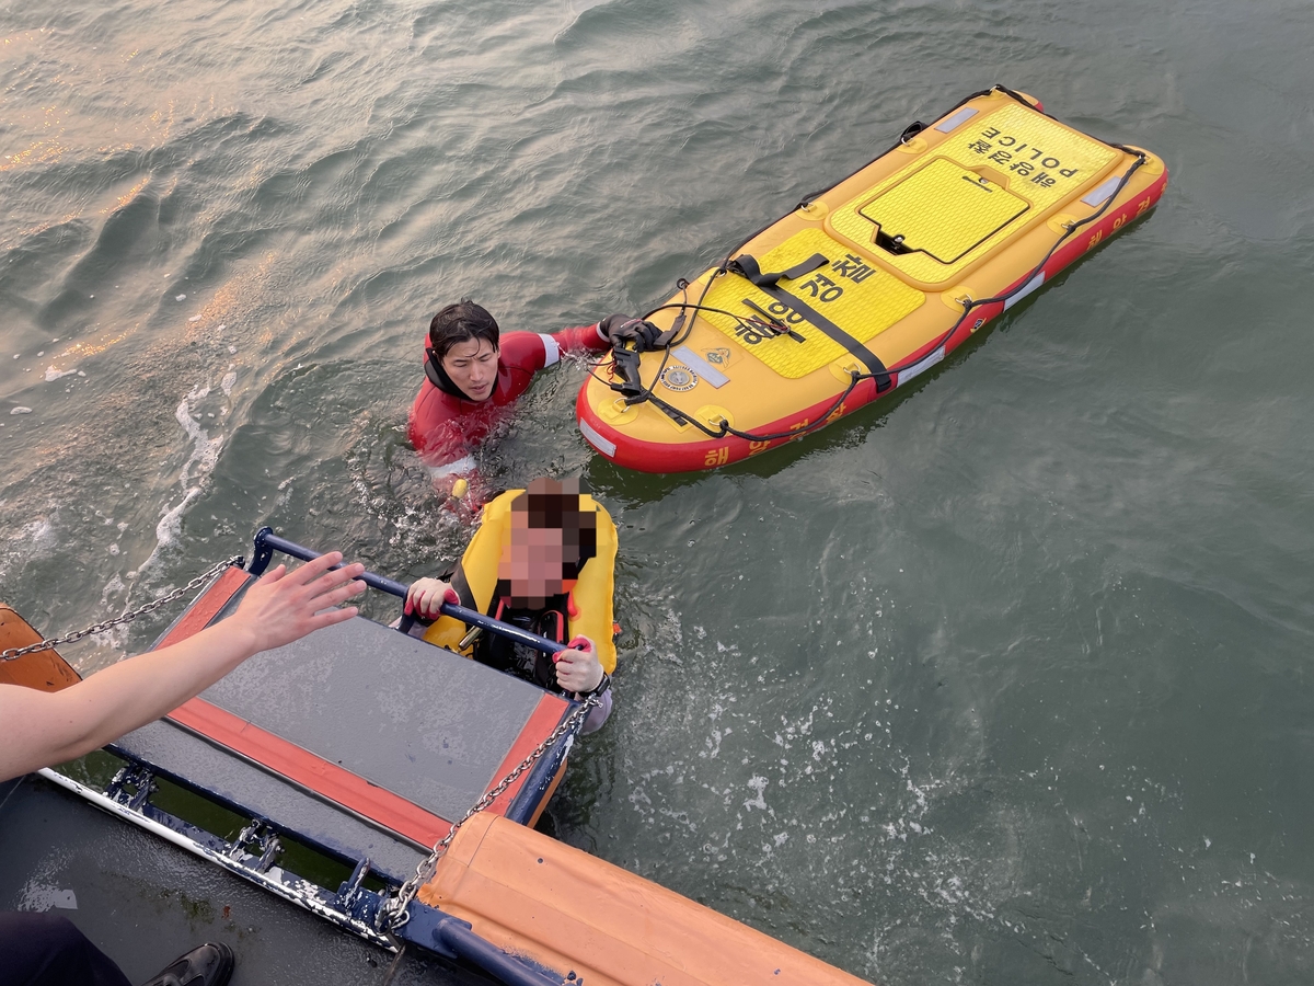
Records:
[[[523,489],[509,489],[484,506],[484,519],[470,538],[452,577],[452,588],[466,609],[489,611],[498,581],[498,560],[502,557],[502,550],[511,543],[511,501],[523,492]],[[615,592],[616,525],[602,505],[587,493],[579,494],[579,509],[593,509],[598,514],[598,547],[597,553],[579,569],[579,578],[570,590],[574,613],[569,617],[570,632],[566,639],[582,635],[593,640],[598,648],[602,669],[611,674],[616,669],[611,609],[611,597]],[[440,617],[426,631],[424,639],[449,651],[465,653],[468,657],[473,653],[473,647],[460,651],[465,632],[466,626],[460,621]]]

